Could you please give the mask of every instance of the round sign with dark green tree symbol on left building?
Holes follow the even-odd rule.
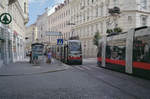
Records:
[[[9,13],[3,13],[0,15],[0,22],[3,24],[10,24],[12,21],[12,17]]]

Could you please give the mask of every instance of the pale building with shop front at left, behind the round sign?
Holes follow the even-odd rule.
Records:
[[[0,14],[10,13],[9,25],[0,23],[0,65],[24,58],[25,24],[28,22],[28,0],[2,0]]]

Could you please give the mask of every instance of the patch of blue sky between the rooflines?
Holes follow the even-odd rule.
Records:
[[[45,12],[45,8],[62,3],[64,0],[29,0],[29,22],[27,26],[36,22],[37,16]]]

